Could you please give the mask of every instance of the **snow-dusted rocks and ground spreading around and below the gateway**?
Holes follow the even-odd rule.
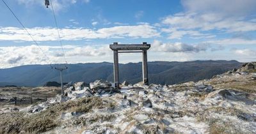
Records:
[[[109,103],[111,107],[86,113],[62,112],[60,127],[47,133],[62,130],[68,130],[67,133],[72,133],[72,130],[80,133],[211,133],[214,125],[229,129],[230,124],[243,124],[246,130],[240,132],[254,133],[256,97],[234,89],[216,89],[206,81],[173,86],[139,83],[121,86],[119,92],[111,87],[110,82],[103,80],[96,80],[90,86],[77,82],[65,90],[65,96],[56,96],[23,111],[36,113],[54,103],[97,97],[102,99],[102,107]],[[232,121],[227,126],[225,116],[232,119],[227,120]],[[224,124],[218,126],[219,122]]]

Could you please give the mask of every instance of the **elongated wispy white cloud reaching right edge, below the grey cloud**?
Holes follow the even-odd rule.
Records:
[[[212,16],[212,17],[210,17]],[[221,20],[219,20],[221,19]],[[176,29],[196,29],[200,31],[224,30],[227,32],[256,31],[256,23],[234,18],[221,18],[216,15],[182,13],[165,17],[163,24]]]

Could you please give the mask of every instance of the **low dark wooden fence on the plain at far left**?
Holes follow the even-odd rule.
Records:
[[[22,104],[33,104],[37,102],[47,101],[47,98],[17,98],[14,97],[13,104],[22,105]]]

